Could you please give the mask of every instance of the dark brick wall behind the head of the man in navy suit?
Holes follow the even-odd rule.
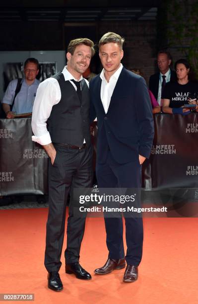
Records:
[[[140,69],[146,81],[155,73],[155,21],[101,22],[99,37],[114,31],[125,38],[123,64],[126,68]]]

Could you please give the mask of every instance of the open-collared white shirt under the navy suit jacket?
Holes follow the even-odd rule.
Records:
[[[102,104],[103,104],[105,113],[107,113],[107,111],[108,111],[110,101],[111,101],[111,96],[115,89],[118,78],[121,74],[122,68],[123,68],[123,65],[121,64],[120,68],[110,77],[109,82],[107,82],[107,80],[105,78],[104,69],[102,70],[102,72],[100,74],[100,78],[102,79],[100,97],[102,100]]]

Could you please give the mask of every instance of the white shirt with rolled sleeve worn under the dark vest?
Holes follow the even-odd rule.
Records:
[[[69,80],[77,90],[76,85],[70,79],[80,81],[83,79],[81,76],[79,80],[75,79],[66,69],[63,70],[65,80]],[[89,82],[85,79],[87,85]],[[61,100],[61,89],[57,79],[50,77],[45,79],[39,84],[37,89],[36,98],[34,101],[32,112],[32,131],[35,136],[32,136],[32,141],[40,145],[48,145],[52,143],[50,133],[47,130],[47,120],[50,117],[52,107],[58,104]],[[59,119],[57,117],[57,119]]]

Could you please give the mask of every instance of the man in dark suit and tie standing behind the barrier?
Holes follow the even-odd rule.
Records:
[[[159,72],[151,75],[149,78],[149,89],[155,96],[159,106],[162,106],[162,91],[165,84],[169,81],[176,81],[176,73],[170,69],[172,62],[171,55],[168,51],[162,50],[157,54],[157,65]]]

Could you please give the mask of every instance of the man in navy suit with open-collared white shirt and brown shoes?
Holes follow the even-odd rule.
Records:
[[[141,187],[141,164],[149,157],[153,140],[153,116],[146,83],[121,64],[124,38],[106,33],[99,41],[103,65],[90,82],[91,120],[97,117],[96,177],[99,188]],[[95,270],[107,274],[127,268],[124,282],[134,282],[142,257],[141,217],[125,216],[127,254],[123,245],[122,217],[105,217],[109,256]]]

